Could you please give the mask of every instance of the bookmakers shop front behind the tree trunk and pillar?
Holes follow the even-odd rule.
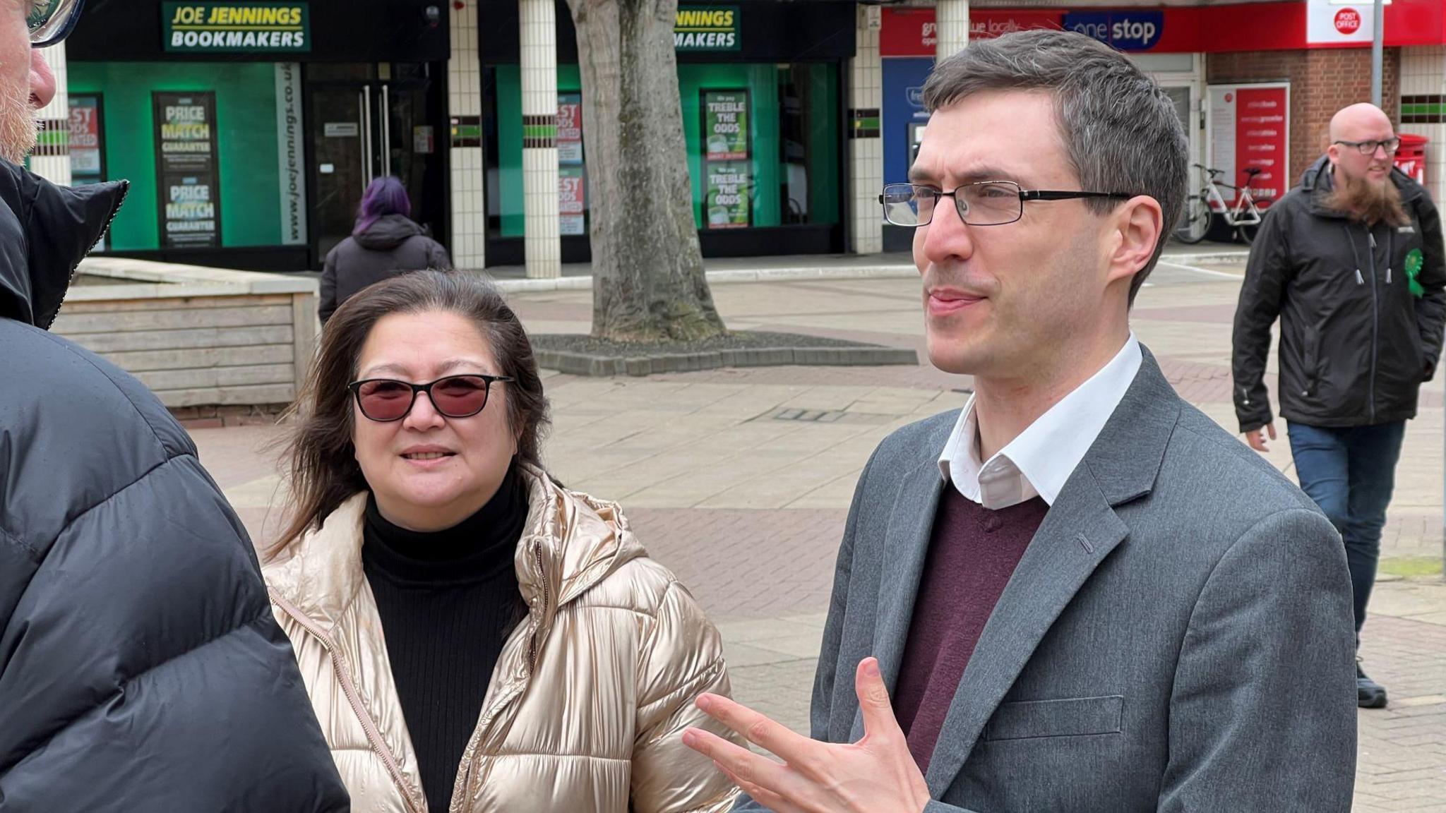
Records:
[[[523,260],[516,4],[487,6],[483,61],[487,265]],[[853,3],[680,4],[674,29],[693,216],[704,256],[844,250],[843,69]],[[589,259],[577,36],[557,9],[562,262]]]

